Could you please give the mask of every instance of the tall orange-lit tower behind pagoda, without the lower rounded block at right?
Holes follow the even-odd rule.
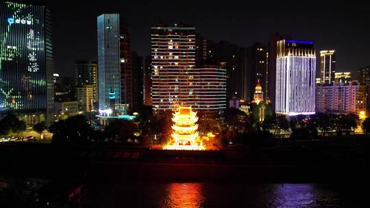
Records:
[[[195,27],[184,24],[151,27],[152,102],[154,112],[190,105],[195,68]]]

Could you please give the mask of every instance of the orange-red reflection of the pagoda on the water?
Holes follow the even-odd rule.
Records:
[[[167,195],[162,199],[160,207],[203,207],[203,184],[202,183],[170,183],[167,185]]]

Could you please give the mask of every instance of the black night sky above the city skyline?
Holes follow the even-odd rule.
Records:
[[[97,58],[97,16],[119,13],[132,28],[132,50],[147,55],[150,27],[184,22],[212,40],[241,47],[267,43],[273,32],[313,40],[314,48],[336,50],[336,71],[355,73],[370,65],[369,4],[338,1],[49,1],[55,71],[73,76],[73,62]],[[258,3],[260,2],[260,3]],[[327,2],[327,3],[324,3]]]

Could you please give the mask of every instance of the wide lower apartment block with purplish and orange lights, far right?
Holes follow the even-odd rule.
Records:
[[[316,86],[315,99],[317,112],[360,114],[367,108],[367,86],[357,81],[319,84]]]

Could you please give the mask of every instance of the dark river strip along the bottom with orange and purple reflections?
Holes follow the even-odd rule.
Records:
[[[311,183],[93,183],[83,207],[364,207],[358,198],[365,200],[347,188]]]

